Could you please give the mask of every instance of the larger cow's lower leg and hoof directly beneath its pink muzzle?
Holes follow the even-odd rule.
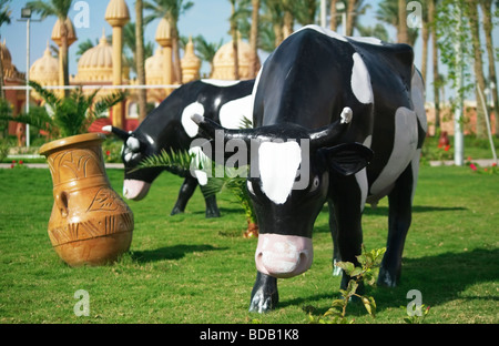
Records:
[[[249,312],[267,313],[274,309],[279,302],[277,278],[256,272],[256,281],[252,291]]]

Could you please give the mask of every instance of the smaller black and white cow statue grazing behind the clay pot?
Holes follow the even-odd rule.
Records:
[[[197,138],[197,125],[192,114],[202,114],[230,129],[238,129],[244,118],[251,120],[252,91],[254,80],[220,81],[198,80],[184,84],[173,91],[154,109],[133,132],[114,126],[104,126],[103,131],[113,132],[124,145],[122,160],[125,166],[123,195],[140,201],[147,194],[152,182],[163,167],[136,170],[146,157],[167,153],[193,152],[191,143]],[[194,153],[196,154],[195,150]],[[184,177],[179,199],[172,215],[183,213],[197,185],[206,183],[206,176],[191,174],[191,171],[167,170]],[[205,195],[206,217],[220,216],[215,195]]]

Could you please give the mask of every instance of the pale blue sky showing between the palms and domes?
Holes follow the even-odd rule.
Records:
[[[73,3],[77,4],[81,0],[74,0]],[[134,1],[125,0],[132,21],[135,21],[134,13]],[[231,40],[228,35],[228,17],[231,14],[231,4],[228,0],[192,0],[194,6],[180,19],[179,30],[182,35],[197,35],[203,34],[204,38],[210,42],[220,42],[221,39],[224,42]],[[19,71],[24,72],[26,69],[26,45],[27,45],[27,34],[26,34],[26,22],[18,21],[21,17],[21,8],[26,6],[28,0],[13,0],[10,2],[10,8],[12,10],[12,23],[10,26],[3,26],[1,28],[1,40],[7,41],[7,47],[9,48],[12,60]],[[78,41],[70,47],[69,57],[69,69],[71,74],[77,73],[77,51],[79,42],[91,39],[93,42],[95,39],[102,35],[102,30],[105,30],[106,34],[111,34],[111,26],[105,21],[104,13],[108,7],[108,0],[85,0],[89,7],[89,26],[77,28]],[[364,26],[374,26],[376,23],[375,11],[379,0],[369,1],[371,9],[367,11],[365,16],[361,17]],[[81,10],[72,9],[70,11],[70,18],[75,22],[75,17],[81,13]],[[33,19],[39,18],[37,14]],[[32,64],[37,59],[43,55],[43,51],[47,47],[47,41],[50,40],[53,24],[55,23],[55,18],[47,18],[42,22],[32,22],[31,24],[31,42],[30,42],[30,64]],[[154,42],[155,47],[157,43],[154,41],[154,34],[157,27],[159,20],[153,21],[145,28],[145,40]],[[395,38],[395,29],[388,28],[391,38]],[[342,29],[338,29],[342,32]],[[499,28],[495,30],[493,33],[495,47],[499,47]],[[50,41],[50,44],[54,44]],[[415,47],[415,63],[417,67],[421,64],[421,40],[417,40]],[[429,48],[429,54],[431,54],[431,48]],[[430,55],[429,55],[430,57]],[[266,54],[261,54],[262,59],[266,58]],[[428,68],[428,80],[427,88],[430,86],[431,81],[431,65]],[[440,71],[445,69],[440,68]],[[202,72],[208,72],[207,63],[203,64]],[[428,99],[431,98],[432,92],[428,94]]]

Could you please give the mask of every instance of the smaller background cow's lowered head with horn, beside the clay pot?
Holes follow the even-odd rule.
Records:
[[[147,195],[151,183],[162,172],[161,167],[136,170],[147,156],[157,154],[154,143],[140,138],[136,133],[129,133],[115,126],[103,126],[103,131],[112,132],[123,141],[121,159],[124,164],[123,196],[140,201]]]

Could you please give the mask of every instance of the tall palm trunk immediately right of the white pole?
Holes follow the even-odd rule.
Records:
[[[473,63],[473,70],[475,70],[475,78],[477,81],[477,88],[476,88],[476,99],[477,99],[477,138],[485,138],[486,136],[486,129],[485,129],[485,110],[483,105],[480,102],[480,93],[478,88],[481,89],[481,92],[485,90],[485,75],[483,75],[483,63],[481,61],[481,50],[480,50],[480,32],[479,32],[479,26],[478,26],[478,10],[477,10],[477,3],[475,1],[467,2],[468,4],[468,13],[469,13],[469,22],[471,27],[471,43],[475,53],[475,63]]]

